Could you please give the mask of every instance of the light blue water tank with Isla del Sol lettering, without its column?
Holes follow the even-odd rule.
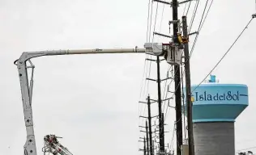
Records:
[[[211,80],[215,81],[215,77]],[[191,91],[194,100],[192,107],[194,123],[234,122],[249,103],[246,85],[212,82],[191,86]],[[186,93],[186,88],[184,92]]]

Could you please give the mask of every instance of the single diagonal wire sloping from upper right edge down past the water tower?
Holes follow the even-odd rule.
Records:
[[[246,24],[245,28],[243,29],[243,31],[241,31],[241,33],[239,34],[239,36],[237,37],[237,39],[233,42],[233,44],[228,48],[228,51],[224,53],[224,56],[220,58],[220,61],[217,62],[217,64],[213,67],[213,69],[211,69],[211,71],[207,74],[207,76],[205,78],[203,78],[203,81],[200,82],[198,84],[198,86],[200,86],[206,79],[207,77],[212,73],[212,71],[220,64],[220,62],[224,59],[224,57],[226,57],[226,55],[228,54],[228,52],[230,51],[231,48],[233,48],[233,45],[237,43],[237,40],[241,37],[241,35],[244,33],[245,29],[248,28],[248,26],[250,25],[251,21],[254,19],[254,17],[252,17],[249,21],[249,23]],[[198,88],[198,86],[196,86],[194,88],[194,90],[196,90]],[[194,90],[192,91],[192,93],[194,92]]]

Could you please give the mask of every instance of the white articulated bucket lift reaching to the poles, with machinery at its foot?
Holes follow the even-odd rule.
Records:
[[[172,44],[161,44],[161,43],[146,43],[144,44],[144,48],[120,48],[120,49],[78,49],[78,50],[58,50],[58,51],[39,51],[39,52],[23,52],[21,57],[14,62],[17,65],[19,71],[19,82],[22,94],[22,102],[23,102],[23,114],[24,121],[27,132],[27,140],[25,145],[23,146],[24,155],[36,155],[36,139],[34,134],[33,127],[33,117],[32,117],[32,88],[33,88],[33,71],[35,65],[32,64],[31,59],[34,57],[42,57],[42,56],[56,56],[56,55],[70,55],[70,54],[105,54],[105,53],[143,53],[162,57],[164,56],[165,60],[170,65],[180,65],[181,64],[181,50],[177,50],[174,48],[173,50]],[[27,62],[29,65],[27,65]],[[30,79],[30,83],[28,84],[28,70],[32,69],[32,75]],[[47,136],[45,140],[49,140],[49,138],[53,138],[54,136]],[[56,137],[55,137],[56,138]],[[50,145],[49,151],[54,154],[54,149],[59,149],[59,145]],[[53,147],[54,146],[54,147]],[[60,147],[61,148],[61,147]],[[64,150],[64,149],[62,149]],[[68,153],[62,152],[62,155],[67,155]]]

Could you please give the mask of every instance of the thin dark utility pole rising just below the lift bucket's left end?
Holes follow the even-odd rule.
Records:
[[[164,153],[164,130],[162,124],[162,100],[161,100],[161,85],[160,85],[160,59],[156,57],[157,64],[157,88],[158,88],[158,117],[159,117],[159,138],[160,138],[160,152]]]

